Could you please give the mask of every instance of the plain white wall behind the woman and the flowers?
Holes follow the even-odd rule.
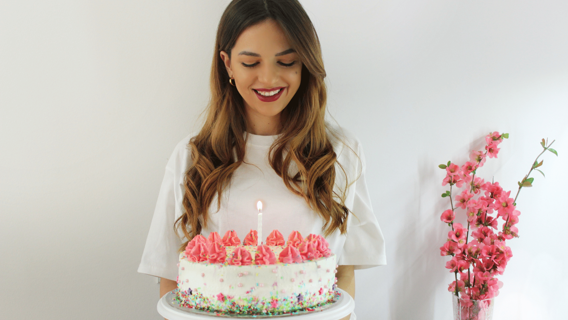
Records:
[[[0,317],[159,319],[136,272],[166,161],[208,99],[227,0],[0,5]],[[302,1],[329,110],[364,143],[386,266],[358,270],[359,319],[450,319],[440,163],[508,132],[479,171],[521,191],[495,318],[561,319],[568,222],[568,3]],[[199,123],[199,122],[197,122]]]

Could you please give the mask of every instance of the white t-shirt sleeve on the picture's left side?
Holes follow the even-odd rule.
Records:
[[[144,253],[138,267],[140,273],[174,281],[178,275],[178,248],[181,245],[181,240],[174,231],[177,218],[175,195],[177,179],[174,163],[177,162],[177,158],[179,157],[176,157],[176,151],[174,151],[166,166]]]

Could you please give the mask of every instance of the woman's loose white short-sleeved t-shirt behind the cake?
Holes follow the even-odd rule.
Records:
[[[365,182],[365,155],[359,140],[345,129],[340,130],[343,131],[342,139],[345,143],[337,140],[332,140],[332,143],[337,159],[348,175],[348,181],[354,181],[346,191],[345,200],[345,206],[354,215],[348,216],[346,235],[340,235],[339,230],[336,230],[326,240],[331,252],[337,255],[339,265],[354,265],[355,269],[385,265],[385,241],[373,214]],[[138,268],[140,273],[170,280],[177,278],[178,248],[182,240],[173,228],[174,221],[184,212],[183,179],[191,161],[187,143],[193,136],[194,134],[190,134],[177,144],[166,165]],[[207,227],[202,230],[204,237],[214,231],[223,236],[227,230],[235,230],[241,241],[244,240],[250,229],[257,228],[258,200],[263,204],[264,239],[273,229],[278,229],[285,239],[292,231],[299,231],[303,237],[310,233],[323,233],[323,219],[310,209],[302,197],[286,188],[282,178],[278,177],[268,162],[268,150],[277,137],[249,134],[244,159],[246,163],[241,164],[233,173],[230,185],[222,193],[218,212],[217,199],[212,201]],[[336,186],[338,185],[344,186],[345,178],[336,167]]]

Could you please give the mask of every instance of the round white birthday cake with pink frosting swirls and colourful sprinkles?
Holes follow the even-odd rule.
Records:
[[[285,241],[273,230],[258,245],[251,230],[223,238],[198,235],[179,254],[179,304],[223,314],[275,315],[315,310],[337,298],[336,255],[320,235],[299,232]]]

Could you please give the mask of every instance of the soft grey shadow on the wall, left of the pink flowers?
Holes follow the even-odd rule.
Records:
[[[446,238],[439,214],[447,202],[433,196],[438,191],[433,186],[441,182],[437,166],[432,165],[435,160],[420,159],[418,189],[409,195],[416,201],[407,204],[402,217],[405,232],[397,239],[395,265],[400,267],[395,269],[389,301],[392,320],[433,319],[435,289],[447,277],[438,249]]]

